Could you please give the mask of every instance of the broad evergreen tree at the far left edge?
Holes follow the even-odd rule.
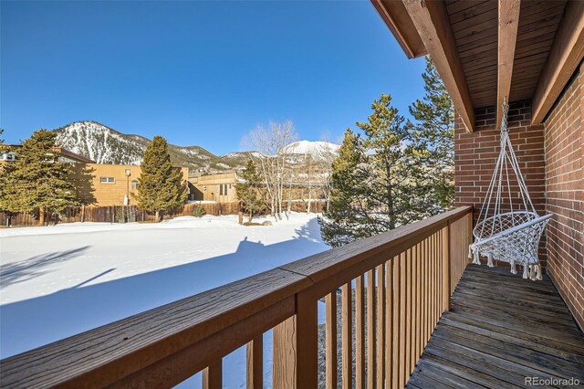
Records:
[[[81,205],[71,180],[71,165],[57,163],[55,132],[40,130],[22,146],[14,163],[5,163],[0,187],[0,209],[10,213],[37,212],[39,224],[45,216]]]

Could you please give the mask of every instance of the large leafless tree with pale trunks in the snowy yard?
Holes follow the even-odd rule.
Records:
[[[282,220],[282,203],[284,188],[289,182],[290,159],[287,156],[287,145],[297,140],[292,121],[270,121],[266,128],[259,125],[249,135],[257,152],[255,163],[266,185],[270,211],[276,221]]]

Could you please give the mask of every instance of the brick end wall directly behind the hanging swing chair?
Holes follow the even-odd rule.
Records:
[[[475,130],[467,133],[463,121],[455,120],[454,129],[454,184],[456,205],[474,205],[474,219],[479,216],[486,190],[499,155],[499,131],[495,130],[495,107],[475,110]],[[543,125],[530,125],[530,101],[510,104],[508,115],[509,137],[517,161],[526,180],[527,190],[537,212],[545,212],[545,163]],[[518,193],[516,184],[512,193]],[[514,201],[515,209],[517,203]],[[502,209],[509,209],[508,201]],[[540,244],[539,258],[546,265],[544,242]]]

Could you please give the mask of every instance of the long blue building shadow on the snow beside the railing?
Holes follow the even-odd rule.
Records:
[[[0,306],[0,356],[25,352],[326,250],[317,232],[318,223],[311,220],[284,242],[265,245],[245,237],[231,254],[98,284],[87,285],[88,280],[5,304]]]

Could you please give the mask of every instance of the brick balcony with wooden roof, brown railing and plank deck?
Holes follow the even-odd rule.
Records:
[[[244,345],[250,388],[264,361],[275,388],[584,383],[584,2],[371,2],[454,100],[458,206],[8,358],[3,385],[171,387],[203,372],[221,388]],[[552,215],[541,281],[468,263],[504,100],[527,189]]]

